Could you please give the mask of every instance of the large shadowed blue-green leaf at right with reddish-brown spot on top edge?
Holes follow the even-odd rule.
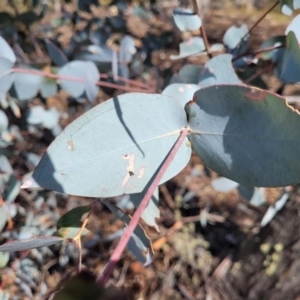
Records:
[[[248,186],[300,182],[300,116],[285,99],[258,88],[200,89],[186,106],[189,139],[203,162]]]

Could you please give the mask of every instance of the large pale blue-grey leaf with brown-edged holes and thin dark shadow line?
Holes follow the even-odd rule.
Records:
[[[186,126],[178,101],[164,95],[128,93],[75,120],[54,140],[23,187],[87,197],[113,197],[144,190]],[[184,143],[163,181],[191,155]],[[159,151],[158,151],[159,149]],[[36,185],[35,183],[35,185]]]

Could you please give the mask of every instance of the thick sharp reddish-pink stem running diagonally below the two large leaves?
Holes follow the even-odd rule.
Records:
[[[107,279],[109,278],[112,270],[114,269],[116,263],[120,260],[121,255],[122,255],[125,247],[127,246],[130,237],[132,236],[137,224],[139,223],[139,220],[141,218],[141,215],[142,215],[144,209],[147,207],[155,189],[158,187],[163,175],[165,174],[169,165],[175,158],[175,155],[178,152],[178,150],[179,150],[181,144],[183,143],[187,134],[188,134],[188,129],[184,128],[181,131],[180,136],[179,136],[178,140],[176,141],[176,143],[174,144],[172,150],[168,154],[163,166],[160,168],[158,174],[156,175],[153,182],[151,183],[151,185],[150,185],[147,193],[145,194],[143,200],[141,201],[139,207],[137,208],[134,215],[132,216],[132,219],[131,219],[128,227],[126,228],[125,233],[121,237],[117,247],[115,248],[113,254],[111,255],[109,262],[106,265],[103,273],[97,279],[98,284],[100,284],[102,286],[105,285],[105,283],[106,283]]]

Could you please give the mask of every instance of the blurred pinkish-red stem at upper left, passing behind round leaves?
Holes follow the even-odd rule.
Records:
[[[30,70],[30,69],[13,68],[13,69],[10,70],[9,73],[12,73],[12,72],[40,75],[40,76],[53,78],[53,79],[65,79],[65,80],[75,81],[75,82],[84,82],[84,78],[73,77],[73,76],[62,76],[62,75],[58,75],[58,74],[52,74],[52,73],[48,73],[48,72],[44,72],[44,71],[36,71],[36,70]],[[5,74],[5,75],[7,75],[7,74]],[[103,77],[105,77],[105,76],[103,76]],[[120,80],[124,79],[123,77],[118,77],[118,78]],[[127,81],[127,82],[130,82],[130,83],[134,82],[134,80],[130,80],[130,79],[126,79],[126,78],[123,81]],[[135,89],[135,88],[132,88],[132,87],[127,87],[127,86],[114,84],[114,83],[110,83],[110,82],[103,82],[103,81],[97,81],[95,84],[97,84],[99,86],[105,86],[105,87],[109,87],[109,88],[113,88],[113,89],[123,90],[123,91],[126,91],[126,92],[149,92],[149,93],[154,92],[154,89],[150,86],[147,86],[147,90],[146,89],[141,90],[141,89]],[[138,83],[136,85],[141,86],[141,85],[144,85],[144,84],[143,83]]]

